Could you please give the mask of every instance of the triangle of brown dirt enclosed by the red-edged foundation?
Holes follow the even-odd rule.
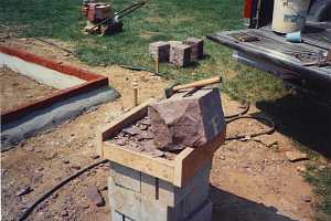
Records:
[[[57,90],[40,84],[28,76],[0,67],[0,112],[50,96]]]

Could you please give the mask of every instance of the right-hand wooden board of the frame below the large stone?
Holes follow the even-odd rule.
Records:
[[[213,158],[214,152],[224,144],[226,128],[214,140],[200,148],[185,148],[175,158],[173,185],[182,187],[197,170]]]

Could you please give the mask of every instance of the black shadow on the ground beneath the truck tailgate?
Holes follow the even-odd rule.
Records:
[[[290,95],[256,106],[275,120],[279,133],[331,159],[330,106]]]

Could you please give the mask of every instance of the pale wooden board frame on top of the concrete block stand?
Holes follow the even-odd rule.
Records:
[[[132,108],[115,122],[100,127],[97,151],[105,159],[169,181],[177,187],[183,187],[185,182],[204,166],[204,164],[213,158],[214,152],[222,144],[224,144],[226,127],[212,141],[200,148],[186,147],[173,160],[128,150],[107,141],[116,136],[122,128],[128,127],[147,116],[147,107],[150,102],[151,101],[148,101],[147,103]]]

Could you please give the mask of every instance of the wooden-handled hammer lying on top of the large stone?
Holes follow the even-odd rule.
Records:
[[[196,92],[197,90],[201,90],[204,86],[221,83],[221,82],[222,82],[222,76],[215,76],[215,77],[211,77],[211,78],[207,78],[207,80],[201,80],[201,81],[197,81],[197,82],[192,82],[190,84],[183,84],[183,85],[174,84],[171,87],[164,90],[164,95],[166,95],[166,98],[169,98],[173,94],[175,94],[177,92],[179,92],[181,90],[193,88],[193,91]],[[193,94],[193,93],[191,91],[191,94]]]

